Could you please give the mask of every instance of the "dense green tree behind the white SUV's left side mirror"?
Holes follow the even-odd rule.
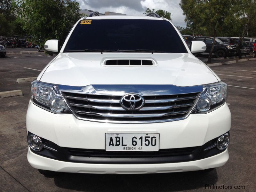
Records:
[[[18,0],[13,5],[17,21],[41,47],[49,39],[59,39],[62,45],[70,28],[83,17],[79,3],[71,0]]]

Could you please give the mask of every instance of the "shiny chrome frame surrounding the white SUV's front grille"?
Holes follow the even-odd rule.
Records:
[[[188,87],[179,87],[175,85],[87,85],[82,87],[77,86],[68,86],[68,85],[59,85],[59,91],[63,100],[65,101],[68,109],[73,113],[73,115],[80,120],[91,121],[91,122],[100,122],[100,123],[121,123],[121,124],[146,124],[146,123],[161,123],[161,122],[171,122],[186,119],[191,112],[196,107],[196,103],[199,100],[202,91],[203,85],[188,86]],[[188,111],[187,115],[180,118],[173,119],[164,119],[164,120],[145,120],[145,121],[113,121],[113,120],[99,120],[99,119],[88,119],[81,118],[76,115],[76,112],[73,111],[65,96],[62,92],[70,93],[80,93],[80,94],[93,94],[93,95],[111,95],[111,96],[124,96],[129,93],[137,93],[141,96],[159,96],[159,95],[175,95],[175,94],[186,94],[186,93],[196,93],[200,92],[197,96],[196,101],[192,108]]]

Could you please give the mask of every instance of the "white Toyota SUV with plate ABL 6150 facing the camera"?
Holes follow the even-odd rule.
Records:
[[[31,83],[28,162],[76,173],[165,173],[228,161],[227,84],[167,19],[89,16]],[[41,171],[44,172],[44,171]],[[45,172],[44,172],[45,173]]]

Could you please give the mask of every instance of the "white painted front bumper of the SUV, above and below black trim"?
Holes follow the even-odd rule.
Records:
[[[53,114],[29,102],[27,130],[61,148],[105,149],[105,133],[159,133],[161,149],[203,146],[230,129],[231,115],[227,104],[207,114],[190,114],[180,121],[151,124],[112,124],[78,120],[72,114]],[[28,150],[28,162],[37,169],[82,173],[156,173],[193,171],[218,167],[228,160],[228,151],[183,162],[169,163],[79,163],[47,158]],[[58,166],[57,166],[58,165]]]

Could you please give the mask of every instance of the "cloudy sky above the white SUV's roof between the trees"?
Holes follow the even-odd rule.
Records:
[[[172,13],[174,25],[186,26],[185,16],[179,6],[180,0],[76,0],[81,9],[89,9],[104,13],[105,11],[124,13],[127,15],[143,15],[146,8],[163,9]]]

